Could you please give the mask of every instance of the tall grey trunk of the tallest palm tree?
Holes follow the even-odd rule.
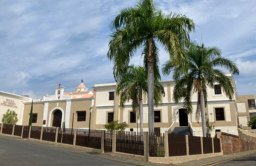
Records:
[[[148,132],[154,133],[154,58],[153,39],[148,39]]]

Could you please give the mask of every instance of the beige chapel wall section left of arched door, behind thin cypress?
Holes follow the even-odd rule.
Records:
[[[31,104],[24,105],[22,125],[28,125],[30,109],[31,109]],[[44,103],[33,102],[33,114],[37,114],[37,120],[36,120],[36,123],[32,123],[32,126],[42,126],[43,113],[44,113]]]

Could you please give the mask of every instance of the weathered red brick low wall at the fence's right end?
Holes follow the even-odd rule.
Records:
[[[256,149],[256,134],[238,128],[238,134],[221,132],[223,155]]]

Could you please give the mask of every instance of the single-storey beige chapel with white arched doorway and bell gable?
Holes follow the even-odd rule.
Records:
[[[89,128],[93,91],[81,83],[75,92],[64,92],[64,87],[55,87],[55,94],[44,96],[44,101],[33,103],[33,126]],[[22,125],[28,125],[32,102],[24,103]]]

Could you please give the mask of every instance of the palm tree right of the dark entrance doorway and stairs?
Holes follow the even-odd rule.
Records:
[[[173,70],[172,76],[176,81],[173,89],[173,99],[178,103],[183,98],[184,107],[187,113],[192,113],[192,95],[197,93],[196,120],[202,118],[203,136],[206,137],[205,107],[207,105],[207,86],[214,88],[214,83],[219,83],[224,93],[232,100],[234,88],[231,80],[220,69],[215,67],[224,67],[233,75],[239,75],[237,65],[228,58],[221,57],[219,47],[205,47],[204,43],[200,46],[195,41],[190,43],[187,51],[189,59],[189,71],[187,74],[182,73],[182,66],[172,64],[172,59],[167,61],[163,66],[164,75],[169,75]],[[183,90],[185,89],[185,97]]]

